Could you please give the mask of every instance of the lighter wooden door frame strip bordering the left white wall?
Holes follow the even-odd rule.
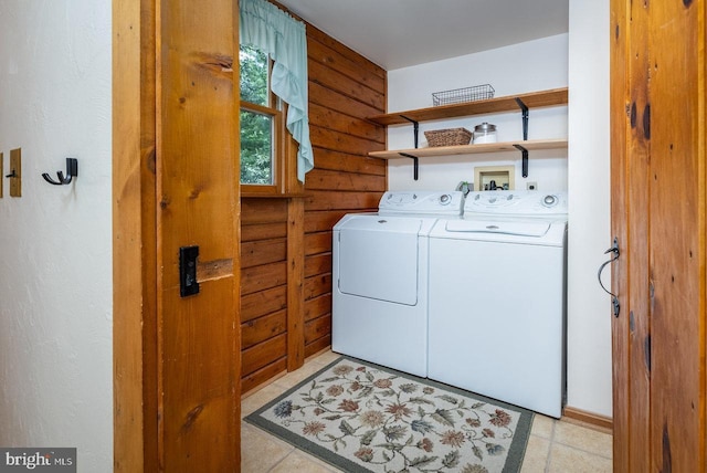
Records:
[[[113,2],[114,470],[144,471],[141,0]]]

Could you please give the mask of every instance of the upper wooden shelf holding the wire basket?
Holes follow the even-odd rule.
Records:
[[[568,88],[551,88],[549,91],[488,98],[485,101],[467,102],[464,104],[440,105],[430,108],[394,112],[391,114],[374,115],[368,117],[368,119],[379,125],[388,126],[400,124],[409,125],[411,122],[426,122],[467,115],[518,112],[520,107],[517,98],[523,101],[528,108],[566,105],[568,103]]]

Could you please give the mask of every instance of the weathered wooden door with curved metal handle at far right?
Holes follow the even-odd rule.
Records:
[[[705,471],[705,1],[611,1],[614,471]]]

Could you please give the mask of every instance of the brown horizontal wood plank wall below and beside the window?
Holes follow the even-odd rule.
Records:
[[[374,210],[387,186],[386,161],[367,157],[386,148],[386,130],[366,120],[386,112],[386,71],[309,24],[307,48],[315,169],[304,196],[242,202],[242,392],[300,365],[288,362],[288,345],[304,346],[305,357],[331,345],[331,228],[346,213]],[[288,225],[296,199],[304,202],[304,221]],[[304,241],[297,249],[303,301],[292,311],[288,239]],[[304,319],[294,337],[288,317]]]

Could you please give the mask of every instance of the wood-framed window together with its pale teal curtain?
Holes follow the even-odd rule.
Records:
[[[239,10],[242,191],[287,193],[314,168],[305,24],[266,0]]]

